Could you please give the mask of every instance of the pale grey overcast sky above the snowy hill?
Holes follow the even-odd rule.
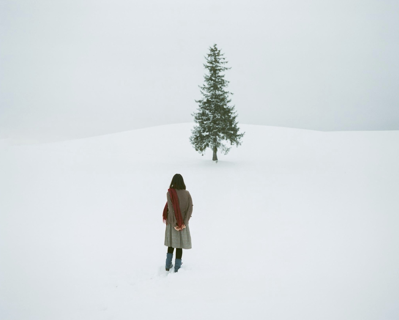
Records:
[[[399,130],[399,1],[0,2],[0,138],[192,122],[217,43],[238,120]]]

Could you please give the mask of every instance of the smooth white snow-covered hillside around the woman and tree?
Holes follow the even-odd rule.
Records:
[[[0,145],[0,318],[399,319],[399,132],[193,124]],[[181,173],[193,249],[166,272]]]

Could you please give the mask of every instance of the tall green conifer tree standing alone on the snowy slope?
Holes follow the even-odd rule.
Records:
[[[229,105],[229,95],[232,93],[225,90],[229,81],[224,79],[222,72],[231,68],[224,67],[227,61],[223,55],[216,44],[209,47],[203,65],[209,74],[204,75],[204,84],[199,86],[203,98],[196,100],[198,111],[192,114],[197,125],[191,131],[190,142],[202,154],[206,148],[211,148],[213,161],[217,161],[217,150],[224,154],[229,152],[231,147],[227,147],[226,142],[237,147],[241,145],[245,133],[238,133],[238,122],[235,120],[237,113],[234,106]]]

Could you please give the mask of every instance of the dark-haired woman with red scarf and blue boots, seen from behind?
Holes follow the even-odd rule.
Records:
[[[163,220],[166,223],[165,245],[168,247],[166,253],[166,271],[172,268],[173,251],[176,248],[175,272],[178,272],[182,265],[182,249],[191,249],[190,228],[188,220],[193,212],[193,200],[182,175],[176,173],[173,176],[168,192]]]

